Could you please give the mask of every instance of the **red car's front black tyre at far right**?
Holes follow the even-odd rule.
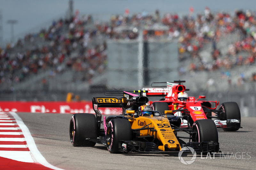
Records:
[[[224,112],[224,120],[237,119],[241,122],[241,113],[236,102],[225,102],[220,105],[219,110]],[[225,131],[236,131],[240,128],[240,123],[237,126],[230,128],[223,128]]]

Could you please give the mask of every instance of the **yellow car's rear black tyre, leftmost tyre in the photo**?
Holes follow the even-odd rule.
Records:
[[[93,114],[76,113],[72,115],[69,136],[73,146],[94,146],[96,143],[86,138],[97,138],[97,121]]]

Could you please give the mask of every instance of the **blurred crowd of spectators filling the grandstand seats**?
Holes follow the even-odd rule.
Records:
[[[102,73],[107,65],[108,40],[136,40],[139,33],[145,41],[178,40],[180,61],[199,59],[188,68],[196,70],[226,70],[255,63],[256,14],[251,11],[235,11],[213,14],[205,8],[202,14],[178,16],[146,11],[128,15],[113,15],[109,22],[93,20],[91,15],[54,21],[48,29],[27,34],[24,39],[0,48],[0,83],[20,82],[38,70],[51,70],[50,77],[72,69],[83,72],[82,81],[91,81],[95,72]],[[228,53],[217,48],[220,38],[229,33],[241,33],[242,39],[228,46]],[[205,62],[199,51],[205,44],[212,45],[212,61]],[[246,52],[248,56],[237,55]],[[251,77],[256,81],[256,73]]]

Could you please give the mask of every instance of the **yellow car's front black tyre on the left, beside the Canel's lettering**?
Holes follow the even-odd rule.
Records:
[[[132,127],[127,119],[112,119],[108,122],[106,144],[110,153],[119,153],[119,141],[132,140]]]

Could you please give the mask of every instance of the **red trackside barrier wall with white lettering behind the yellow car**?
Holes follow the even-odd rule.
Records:
[[[122,113],[121,108],[99,108],[103,115],[119,115]],[[31,113],[58,113],[58,114],[74,114],[74,113],[92,113],[92,102],[0,102],[0,111],[5,112],[31,112]]]

